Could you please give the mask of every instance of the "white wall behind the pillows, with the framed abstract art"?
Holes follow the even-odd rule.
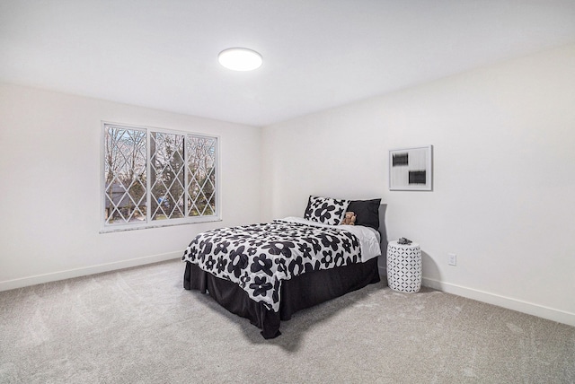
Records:
[[[569,46],[266,127],[263,219],[383,197],[424,284],[575,325],[573,68]],[[389,191],[388,151],[425,144],[434,190]]]

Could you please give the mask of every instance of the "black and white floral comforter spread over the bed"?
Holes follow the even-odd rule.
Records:
[[[361,248],[349,231],[275,220],[200,233],[182,260],[239,284],[253,301],[278,312],[282,280],[358,263]]]

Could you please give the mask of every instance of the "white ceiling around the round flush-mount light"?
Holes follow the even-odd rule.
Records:
[[[571,43],[575,0],[0,1],[0,82],[252,126]]]

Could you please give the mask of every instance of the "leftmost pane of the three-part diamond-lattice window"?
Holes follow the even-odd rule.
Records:
[[[146,220],[146,132],[105,128],[106,224]]]

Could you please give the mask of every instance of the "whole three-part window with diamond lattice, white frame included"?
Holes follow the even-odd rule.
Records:
[[[217,137],[103,123],[102,231],[219,220]]]

